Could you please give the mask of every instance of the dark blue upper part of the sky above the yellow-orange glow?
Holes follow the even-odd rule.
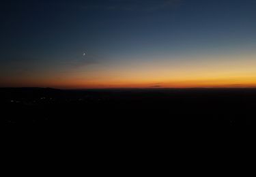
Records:
[[[103,66],[189,63],[195,59],[189,56],[251,53],[256,46],[253,0],[11,0],[0,6],[5,80],[63,77],[77,66],[94,76]]]

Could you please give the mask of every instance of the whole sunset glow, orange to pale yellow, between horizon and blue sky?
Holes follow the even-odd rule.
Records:
[[[2,77],[1,85],[53,88],[242,88],[256,87],[256,54],[197,57],[179,62],[121,62]],[[214,58],[216,57],[216,59]]]

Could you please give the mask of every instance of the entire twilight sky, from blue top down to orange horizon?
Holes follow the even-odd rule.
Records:
[[[255,0],[2,0],[0,86],[256,87]]]

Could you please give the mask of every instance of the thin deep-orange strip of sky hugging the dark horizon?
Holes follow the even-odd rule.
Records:
[[[17,82],[10,86],[32,86],[53,88],[251,88],[256,87],[256,78],[230,78],[209,80],[176,80],[176,81],[123,81],[123,82]],[[21,84],[22,83],[22,84]]]

